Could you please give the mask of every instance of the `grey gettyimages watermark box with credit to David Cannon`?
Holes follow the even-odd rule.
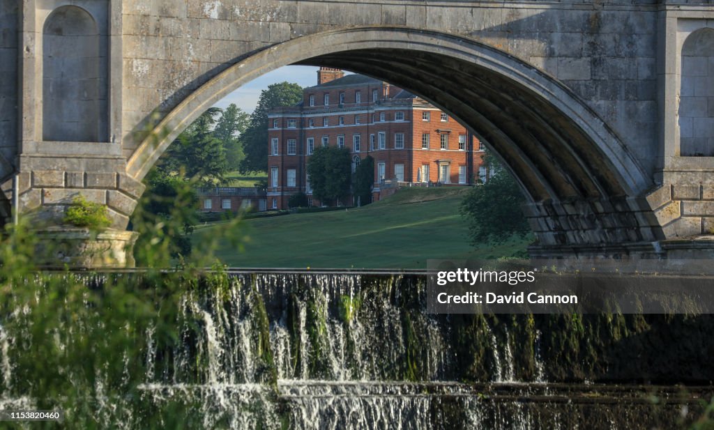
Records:
[[[705,260],[428,260],[431,313],[710,314]]]

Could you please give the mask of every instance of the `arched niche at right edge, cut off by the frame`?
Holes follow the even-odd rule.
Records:
[[[682,46],[680,155],[714,156],[714,29],[699,29]]]

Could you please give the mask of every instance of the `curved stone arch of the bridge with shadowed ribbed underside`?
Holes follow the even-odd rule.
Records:
[[[206,108],[287,64],[344,68],[390,81],[459,118],[516,176],[531,201],[526,212],[541,246],[663,238],[641,198],[652,180],[578,96],[508,53],[439,31],[326,31],[236,58],[163,118],[151,133],[161,138],[141,143],[129,159],[129,175],[141,180]]]

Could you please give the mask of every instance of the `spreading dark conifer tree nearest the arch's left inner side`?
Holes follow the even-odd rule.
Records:
[[[226,148],[213,135],[219,108],[210,108],[191,123],[174,140],[159,160],[159,169],[167,175],[182,172],[183,178],[196,178],[198,185],[213,186],[226,183],[228,160]]]

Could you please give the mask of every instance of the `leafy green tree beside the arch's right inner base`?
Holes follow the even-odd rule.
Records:
[[[493,175],[477,185],[461,203],[461,215],[468,222],[473,245],[498,245],[511,237],[526,237],[528,227],[521,205],[526,203],[521,188],[493,155],[486,153],[484,162]]]

